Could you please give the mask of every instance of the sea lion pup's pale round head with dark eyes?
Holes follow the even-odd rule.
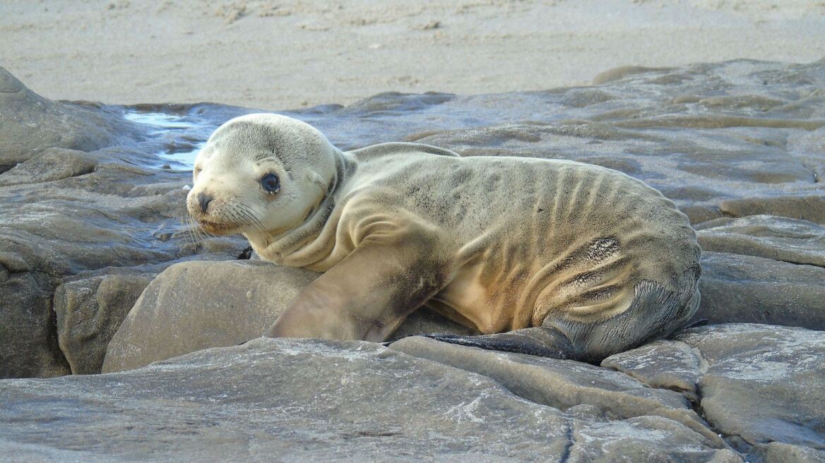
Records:
[[[299,120],[231,119],[198,153],[186,208],[206,232],[276,236],[303,223],[328,194],[336,156],[323,133]]]

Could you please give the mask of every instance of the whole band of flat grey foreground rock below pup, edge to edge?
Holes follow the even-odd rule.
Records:
[[[0,451],[26,461],[818,461],[823,348],[818,331],[717,325],[596,367],[419,337],[389,348],[261,338],[129,372],[0,381]]]

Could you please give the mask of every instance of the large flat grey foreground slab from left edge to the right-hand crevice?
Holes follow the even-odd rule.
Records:
[[[254,339],[130,372],[0,381],[0,451],[27,461],[742,461],[685,424],[700,421],[675,392],[596,367],[564,380],[561,364],[489,356],[534,370],[535,391],[573,398],[538,383],[558,377],[634,417],[536,403],[379,344]]]

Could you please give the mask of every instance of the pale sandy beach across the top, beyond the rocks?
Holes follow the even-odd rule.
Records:
[[[825,2],[0,2],[0,66],[60,100],[267,110],[586,85],[622,65],[825,56]]]

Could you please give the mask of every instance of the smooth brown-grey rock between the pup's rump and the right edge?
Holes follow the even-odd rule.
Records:
[[[825,268],[719,252],[703,253],[701,264],[694,320],[825,330]]]

